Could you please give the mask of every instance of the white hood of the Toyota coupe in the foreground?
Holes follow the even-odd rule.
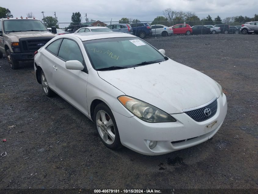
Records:
[[[98,71],[100,78],[125,95],[173,114],[220,96],[213,79],[171,59],[145,66]]]

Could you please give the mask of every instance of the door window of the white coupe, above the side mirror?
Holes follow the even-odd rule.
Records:
[[[63,40],[58,56],[65,61],[78,60],[83,63],[81,50],[79,49],[78,45],[70,39]]]

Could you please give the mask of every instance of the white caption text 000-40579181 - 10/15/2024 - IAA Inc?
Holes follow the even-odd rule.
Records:
[[[94,193],[161,193],[156,189],[94,189]]]

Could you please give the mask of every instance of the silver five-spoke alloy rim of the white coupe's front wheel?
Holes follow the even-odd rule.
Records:
[[[115,141],[114,123],[107,112],[100,110],[96,114],[96,124],[100,137],[111,145]]]

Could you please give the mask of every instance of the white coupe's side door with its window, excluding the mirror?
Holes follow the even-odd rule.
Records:
[[[69,60],[80,61],[84,70],[68,70],[65,62]],[[64,38],[57,57],[53,61],[54,90],[76,108],[88,114],[86,102],[87,69],[78,44],[71,39]]]

